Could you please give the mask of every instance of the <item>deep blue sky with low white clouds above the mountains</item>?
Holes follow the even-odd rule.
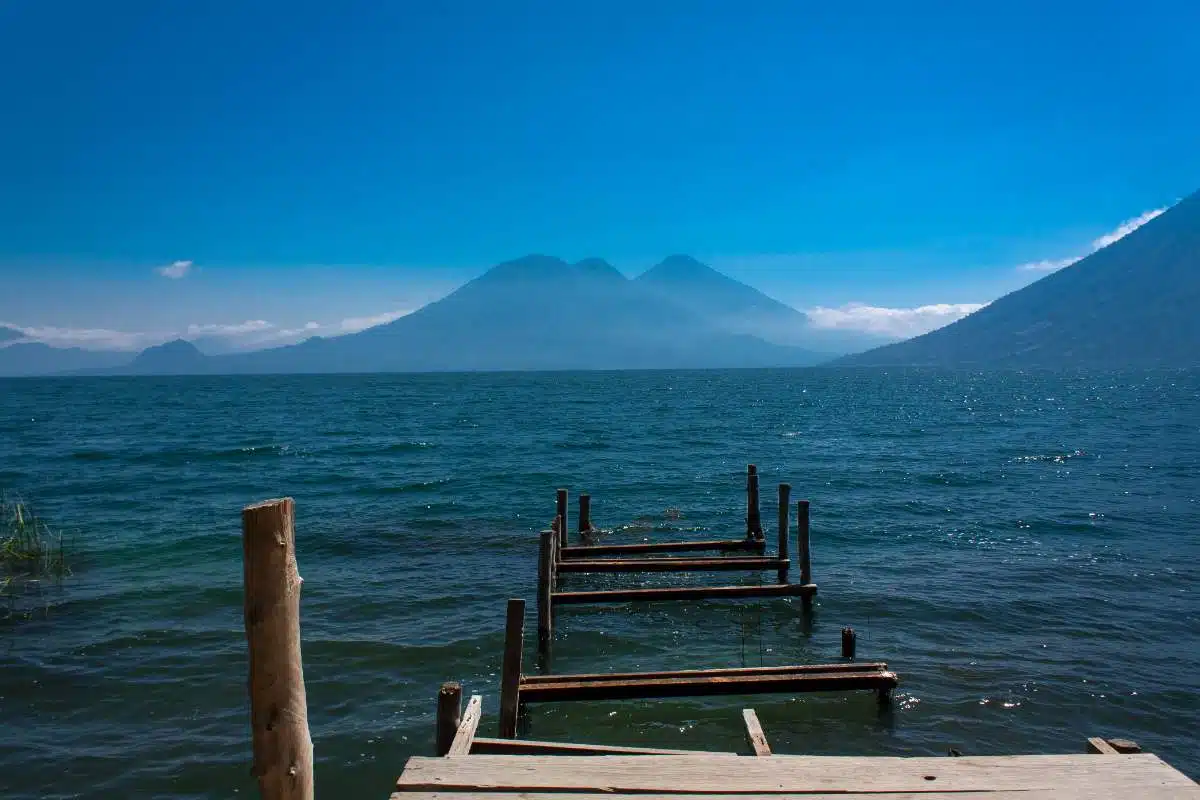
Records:
[[[916,331],[1200,187],[1200,4],[842,5],[0,4],[0,321],[283,341],[686,252]]]

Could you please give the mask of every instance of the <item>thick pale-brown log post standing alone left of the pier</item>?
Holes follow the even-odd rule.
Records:
[[[264,800],[313,798],[294,519],[292,498],[241,510],[253,774]]]

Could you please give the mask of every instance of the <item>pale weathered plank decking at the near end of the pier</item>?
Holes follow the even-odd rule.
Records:
[[[1187,776],[1132,756],[853,758],[472,756],[409,759],[401,790],[647,794],[1057,792],[1058,798],[1200,798]],[[842,795],[845,796],[845,795]],[[1027,795],[1026,795],[1027,796]],[[578,795],[571,798],[578,800]],[[877,800],[877,798],[876,798]]]

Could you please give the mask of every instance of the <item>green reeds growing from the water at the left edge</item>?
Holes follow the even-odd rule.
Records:
[[[41,595],[47,579],[61,582],[71,575],[66,540],[50,529],[20,498],[0,495],[0,597],[8,616],[18,613],[18,599]],[[32,609],[25,609],[25,615]]]

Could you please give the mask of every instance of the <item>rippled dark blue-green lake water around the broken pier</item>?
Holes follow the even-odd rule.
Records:
[[[812,503],[811,626],[785,600],[572,607],[556,670],[836,661],[851,625],[893,711],[560,704],[530,736],[740,750],[752,705],[776,752],[1121,735],[1200,775],[1200,372],[100,378],[0,380],[0,487],[74,567],[0,622],[0,795],[256,796],[248,503],[296,501],[318,793],[383,798],[442,681],[496,735],[504,601],[534,596],[557,487],[606,541],[740,535],[750,462],[768,542],[776,482]]]

